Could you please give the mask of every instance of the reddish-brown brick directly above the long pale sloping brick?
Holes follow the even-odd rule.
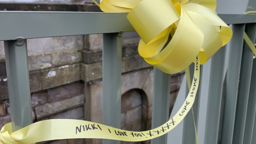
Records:
[[[54,102],[61,99],[81,95],[84,93],[84,82],[75,82],[64,86],[48,89],[48,101]]]

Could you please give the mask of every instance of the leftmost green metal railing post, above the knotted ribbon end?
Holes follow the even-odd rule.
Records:
[[[32,124],[27,41],[4,41],[12,131]]]

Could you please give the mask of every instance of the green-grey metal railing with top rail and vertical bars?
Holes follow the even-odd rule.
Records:
[[[122,32],[134,31],[126,15],[0,11],[0,40],[4,41],[5,47],[13,131],[32,123],[26,39],[99,33],[103,33],[103,124],[120,128],[121,37]],[[234,36],[229,51],[222,48],[202,66],[200,90],[194,105],[199,140],[207,144],[247,144],[248,140],[254,144],[256,77],[252,73],[256,71],[256,62],[253,63],[249,47],[243,44],[243,32],[246,27],[249,37],[255,40],[256,16],[219,16],[227,24],[232,24]],[[225,59],[226,55],[229,59]],[[170,78],[169,74],[154,69],[152,128],[165,123],[169,117]],[[183,82],[178,98],[185,94],[184,86]],[[179,125],[183,128],[176,128],[168,135],[181,131],[182,143],[195,141],[192,122],[189,113]],[[103,143],[120,144],[120,141],[103,140]],[[153,139],[151,143],[165,144],[167,135]]]

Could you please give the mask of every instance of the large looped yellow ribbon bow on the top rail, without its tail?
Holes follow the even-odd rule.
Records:
[[[184,70],[198,54],[204,64],[232,37],[216,14],[216,0],[101,0],[99,6],[104,12],[129,12],[141,37],[139,54],[169,74]]]

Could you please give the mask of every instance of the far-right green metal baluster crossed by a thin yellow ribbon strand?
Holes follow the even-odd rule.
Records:
[[[246,24],[245,31],[255,43],[256,24]],[[250,81],[252,74],[253,53],[249,46],[244,43],[241,63],[241,76],[238,88],[237,111],[234,127],[233,143],[241,144],[244,139],[245,121],[248,106]]]

